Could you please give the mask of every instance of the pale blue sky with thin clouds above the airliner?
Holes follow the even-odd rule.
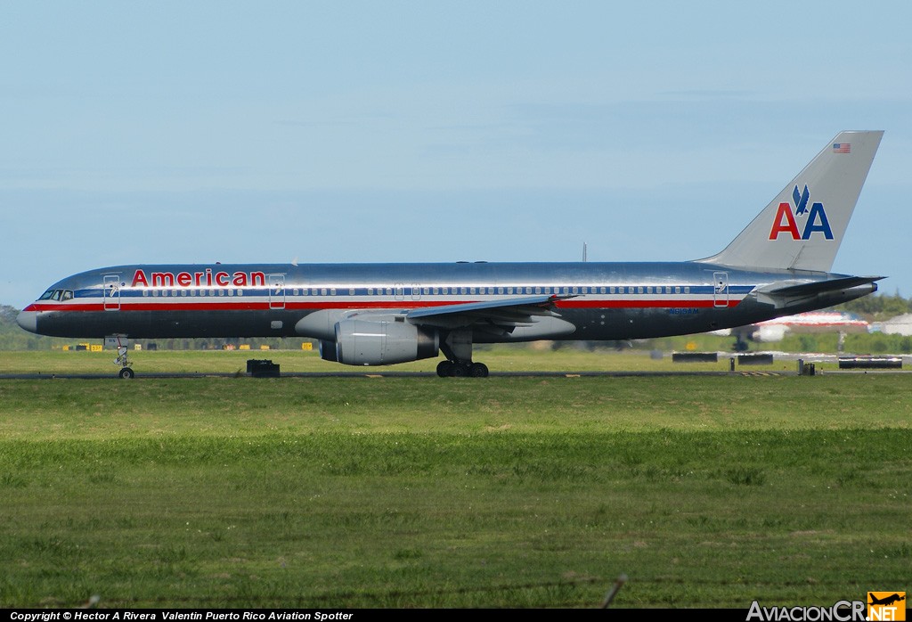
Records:
[[[886,130],[834,270],[912,295],[907,2],[0,3],[0,304],[132,263],[694,259]]]

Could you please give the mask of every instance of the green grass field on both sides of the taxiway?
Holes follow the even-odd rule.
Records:
[[[103,354],[0,372],[116,370]],[[133,381],[0,380],[0,606],[590,607],[622,573],[621,607],[909,587],[905,374],[141,378],[252,358],[152,354]]]

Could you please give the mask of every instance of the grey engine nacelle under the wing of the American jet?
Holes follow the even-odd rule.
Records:
[[[335,346],[335,348],[333,347]],[[347,319],[336,324],[336,343],[320,342],[320,357],[345,365],[391,365],[436,357],[436,330],[406,321]]]

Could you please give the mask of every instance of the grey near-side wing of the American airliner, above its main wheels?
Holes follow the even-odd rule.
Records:
[[[536,317],[559,317],[554,304],[575,295],[534,295],[524,298],[490,300],[481,303],[431,306],[409,311],[406,319],[411,324],[438,328],[462,328],[487,325],[512,330],[527,327]]]

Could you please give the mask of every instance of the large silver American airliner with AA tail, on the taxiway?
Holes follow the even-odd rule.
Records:
[[[473,344],[627,340],[757,324],[871,294],[832,274],[883,131],[843,131],[720,253],[688,262],[161,264],[90,270],[17,316],[57,337],[308,337],[353,366],[444,359],[487,377]]]

